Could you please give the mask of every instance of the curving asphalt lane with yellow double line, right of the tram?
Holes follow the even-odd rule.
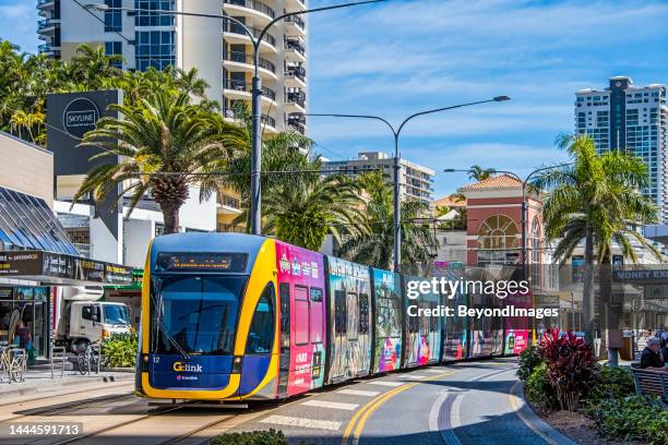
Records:
[[[241,428],[282,430],[294,444],[569,444],[518,397],[515,370],[515,359],[497,359],[360,380]]]

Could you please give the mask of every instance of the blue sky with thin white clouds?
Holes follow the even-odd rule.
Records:
[[[0,0],[0,37],[28,51],[38,44],[34,4]],[[573,130],[575,91],[603,88],[612,75],[668,83],[667,1],[390,0],[309,20],[311,112],[398,122],[422,109],[513,98],[413,121],[402,155],[437,171],[479,164],[526,175],[563,159],[553,141]],[[392,148],[380,123],[310,118],[309,129],[332,159]],[[437,175],[437,195],[466,180]]]

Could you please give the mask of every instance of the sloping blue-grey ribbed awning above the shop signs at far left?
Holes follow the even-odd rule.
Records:
[[[62,225],[41,199],[0,187],[0,242],[5,251],[38,250],[79,256]]]

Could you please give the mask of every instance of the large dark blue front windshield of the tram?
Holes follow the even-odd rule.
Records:
[[[153,351],[231,354],[247,277],[179,276],[157,280]]]

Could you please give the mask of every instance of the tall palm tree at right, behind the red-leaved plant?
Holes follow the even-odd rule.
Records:
[[[641,193],[648,184],[647,170],[641,158],[624,151],[599,155],[594,141],[585,135],[561,135],[557,145],[569,153],[573,164],[546,170],[533,185],[547,190],[542,215],[548,242],[557,241],[556,261],[565,263],[585,240],[583,315],[591,340],[595,328],[595,261],[600,266],[601,301],[608,301],[613,243],[632,262],[637,262],[632,241],[660,258],[660,253],[636,230],[641,225],[656,221],[657,209]],[[608,315],[607,327],[617,329],[619,314],[608,311]]]

